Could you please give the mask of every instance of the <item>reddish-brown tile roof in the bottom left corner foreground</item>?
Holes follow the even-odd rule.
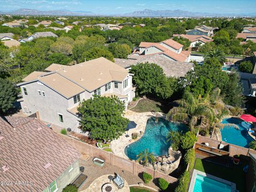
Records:
[[[81,156],[36,118],[0,117],[0,127],[0,180],[33,182],[4,191],[43,191]]]

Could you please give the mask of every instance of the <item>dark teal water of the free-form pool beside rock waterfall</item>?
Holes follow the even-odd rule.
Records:
[[[148,149],[149,153],[153,153],[155,156],[168,155],[171,142],[167,141],[166,135],[170,130],[185,133],[188,128],[185,124],[169,122],[163,118],[158,118],[157,123],[154,118],[149,118],[145,133],[138,141],[125,147],[125,155],[135,160],[137,155],[145,149]]]

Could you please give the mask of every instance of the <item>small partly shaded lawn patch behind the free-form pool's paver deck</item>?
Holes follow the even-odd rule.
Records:
[[[161,103],[159,101],[154,101],[150,99],[141,99],[137,106],[132,108],[132,111],[143,113],[149,111],[168,113],[170,106],[166,103]]]

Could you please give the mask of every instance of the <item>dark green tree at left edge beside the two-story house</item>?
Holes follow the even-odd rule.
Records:
[[[17,97],[18,91],[13,84],[0,78],[0,114],[13,108],[13,103],[17,100]]]

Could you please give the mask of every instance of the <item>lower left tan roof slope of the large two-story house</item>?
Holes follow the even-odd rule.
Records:
[[[51,87],[54,91],[60,93],[66,98],[71,98],[78,93],[84,92],[81,86],[69,81],[58,73],[38,77],[39,81]]]

